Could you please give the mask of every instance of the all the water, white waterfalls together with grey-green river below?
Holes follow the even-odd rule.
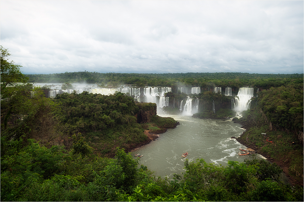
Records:
[[[33,83],[34,86],[50,86],[52,91],[49,92],[50,97],[56,94],[71,93],[73,89],[61,91],[61,83]],[[170,92],[169,87],[145,87],[143,89],[121,86],[119,89],[100,88],[97,84],[73,84],[78,89],[78,93],[83,90],[91,93],[100,93],[109,95],[115,91],[129,93],[134,96],[135,100],[143,102],[157,103],[158,107],[168,106],[168,98],[164,97],[165,92]],[[198,87],[179,88],[181,91],[199,93]],[[216,87],[215,92],[222,92],[222,89]],[[225,89],[225,94],[231,96],[231,88]],[[240,114],[241,111],[248,109],[250,98],[253,97],[253,88],[240,88],[237,98],[232,99],[234,109]],[[191,101],[191,102],[188,102]],[[198,100],[194,100],[192,107],[192,99],[181,100],[182,114],[188,116],[177,115],[161,115],[163,117],[172,117],[178,121],[178,125],[174,129],[168,129],[166,133],[159,134],[159,138],[151,143],[140,147],[132,152],[133,156],[140,153],[140,165],[147,166],[149,170],[155,172],[156,176],[173,177],[173,173],[180,174],[184,171],[184,161],[189,159],[204,159],[207,163],[215,163],[216,165],[226,166],[229,160],[243,162],[245,158],[252,159],[253,156],[240,156],[240,148],[246,148],[231,137],[238,137],[243,132],[240,124],[233,123],[231,120],[212,120],[199,119],[191,117],[198,110]],[[184,106],[185,103],[185,106]],[[194,108],[194,109],[193,109]],[[214,108],[215,112],[216,109]],[[181,157],[182,153],[188,152],[188,156]],[[264,158],[256,154],[257,158]],[[138,157],[134,157],[138,158]]]

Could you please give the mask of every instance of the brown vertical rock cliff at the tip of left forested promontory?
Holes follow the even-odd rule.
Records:
[[[156,115],[156,104],[155,103],[136,103],[139,107],[139,112],[135,115],[137,117],[137,123],[149,123],[151,117]]]

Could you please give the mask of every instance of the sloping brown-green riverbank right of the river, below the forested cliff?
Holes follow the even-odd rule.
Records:
[[[299,169],[303,165],[301,166],[301,160],[298,160],[302,156],[298,149],[300,145],[297,147],[296,145],[292,145],[296,140],[292,139],[291,134],[269,130],[269,125],[261,121],[259,116],[252,109],[249,115],[247,114],[247,116],[235,121],[235,123],[241,124],[242,128],[246,129],[240,137],[236,138],[237,141],[255,150],[256,153],[267,158],[269,162],[276,163],[281,167],[292,186],[299,185],[303,187],[303,172]],[[261,132],[267,135],[263,136]],[[268,138],[272,140],[272,143],[266,141]],[[295,163],[297,161],[299,163]]]

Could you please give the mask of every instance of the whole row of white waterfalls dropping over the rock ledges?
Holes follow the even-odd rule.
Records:
[[[58,86],[59,87],[59,86]],[[186,94],[199,94],[201,93],[200,87],[178,87],[177,89],[181,93]],[[156,103],[157,111],[162,113],[160,108],[165,106],[169,106],[169,97],[165,97],[164,94],[168,92],[172,92],[171,87],[129,87],[122,86],[119,88],[99,88],[96,85],[82,85],[80,88],[67,89],[67,90],[58,90],[54,89],[49,91],[48,96],[50,98],[54,98],[57,94],[62,93],[82,93],[87,91],[89,93],[98,93],[102,95],[111,95],[115,92],[125,93],[128,96],[132,96],[137,102],[147,102],[147,103]],[[221,87],[215,87],[214,93],[222,93]],[[232,96],[232,89],[230,87],[225,88],[225,96]],[[240,112],[247,110],[250,108],[251,98],[254,96],[254,88],[242,87],[239,89],[237,96],[231,99],[231,109],[236,111],[237,116],[241,116]],[[175,101],[174,101],[175,103]],[[179,106],[173,105],[173,107],[178,107],[181,114],[184,116],[192,116],[194,113],[199,112],[199,99],[190,98],[181,100]],[[212,104],[212,110],[215,113],[217,109],[215,109],[214,104]]]

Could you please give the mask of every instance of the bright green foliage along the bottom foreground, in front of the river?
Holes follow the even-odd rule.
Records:
[[[79,139],[81,142],[82,140]],[[185,173],[155,177],[139,158],[117,148],[113,159],[29,145],[2,156],[2,201],[301,201],[303,188],[278,180],[264,160],[229,161],[227,167],[185,160]],[[78,142],[79,143],[79,142]],[[85,143],[84,143],[85,145]]]

